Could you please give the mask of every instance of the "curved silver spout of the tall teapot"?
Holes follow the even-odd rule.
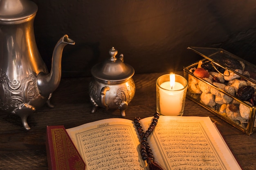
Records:
[[[54,92],[61,81],[61,58],[63,49],[67,44],[74,45],[74,40],[68,38],[68,35],[58,40],[52,54],[52,68],[49,74],[40,72],[37,76],[37,86],[43,96]]]

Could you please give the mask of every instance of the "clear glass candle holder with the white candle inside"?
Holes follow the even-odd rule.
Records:
[[[182,116],[184,112],[187,80],[175,74],[175,81],[170,74],[162,75],[156,80],[157,113],[166,116]]]

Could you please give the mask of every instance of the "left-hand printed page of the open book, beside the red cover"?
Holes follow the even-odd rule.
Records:
[[[146,170],[135,126],[127,119],[104,119],[67,129],[86,170]]]

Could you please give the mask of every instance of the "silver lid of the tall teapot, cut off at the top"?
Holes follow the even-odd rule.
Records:
[[[37,9],[37,5],[30,0],[0,0],[0,22],[29,18]]]

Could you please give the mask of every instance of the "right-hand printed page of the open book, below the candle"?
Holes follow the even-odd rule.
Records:
[[[151,121],[141,120],[144,131]],[[166,170],[241,170],[209,117],[160,116],[148,143]]]

